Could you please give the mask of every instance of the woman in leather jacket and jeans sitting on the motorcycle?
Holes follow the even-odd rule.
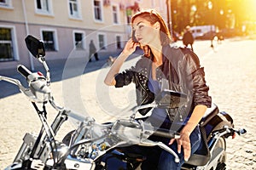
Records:
[[[174,48],[165,21],[154,10],[144,10],[131,19],[132,38],[125,44],[119,57],[115,59],[105,83],[116,88],[136,84],[137,105],[145,105],[154,100],[163,89],[187,94],[187,105],[178,109],[154,109],[148,121],[154,126],[178,130],[180,139],[161,139],[176,151],[181,161],[176,163],[165,150],[160,152],[158,169],[180,169],[184,161],[198,149],[201,134],[198,123],[211,106],[209,88],[206,85],[203,68],[198,57],[188,48]],[[120,72],[120,67],[137,47],[144,54],[131,69]],[[167,82],[167,83],[166,83]],[[139,112],[145,115],[149,110]],[[177,126],[178,125],[178,126]],[[175,129],[173,129],[175,128]],[[148,155],[148,160],[150,155]],[[152,162],[152,161],[150,161]],[[143,169],[148,169],[143,163]],[[153,169],[150,167],[150,169]]]

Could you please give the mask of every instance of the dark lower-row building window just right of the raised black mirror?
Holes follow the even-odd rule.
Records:
[[[42,31],[46,51],[56,51],[55,31]]]

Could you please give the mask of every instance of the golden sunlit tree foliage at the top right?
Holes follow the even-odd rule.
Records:
[[[188,25],[215,25],[219,29],[241,28],[247,20],[255,20],[256,15],[255,0],[167,1],[171,1],[172,6],[172,29],[178,32]]]

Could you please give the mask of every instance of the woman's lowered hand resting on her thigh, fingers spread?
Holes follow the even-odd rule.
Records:
[[[188,132],[181,132],[179,139],[171,139],[169,144],[171,145],[175,140],[177,141],[177,152],[181,153],[181,148],[183,146],[183,152],[184,152],[184,160],[188,161],[190,154],[191,154],[191,145],[190,145],[190,139],[189,139],[190,133]]]

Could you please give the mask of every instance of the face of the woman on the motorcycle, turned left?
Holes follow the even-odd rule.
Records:
[[[132,31],[137,41],[143,46],[150,45],[154,42],[155,38],[160,37],[159,23],[156,22],[154,25],[151,25],[148,20],[140,16],[137,16],[135,20],[133,20]]]

